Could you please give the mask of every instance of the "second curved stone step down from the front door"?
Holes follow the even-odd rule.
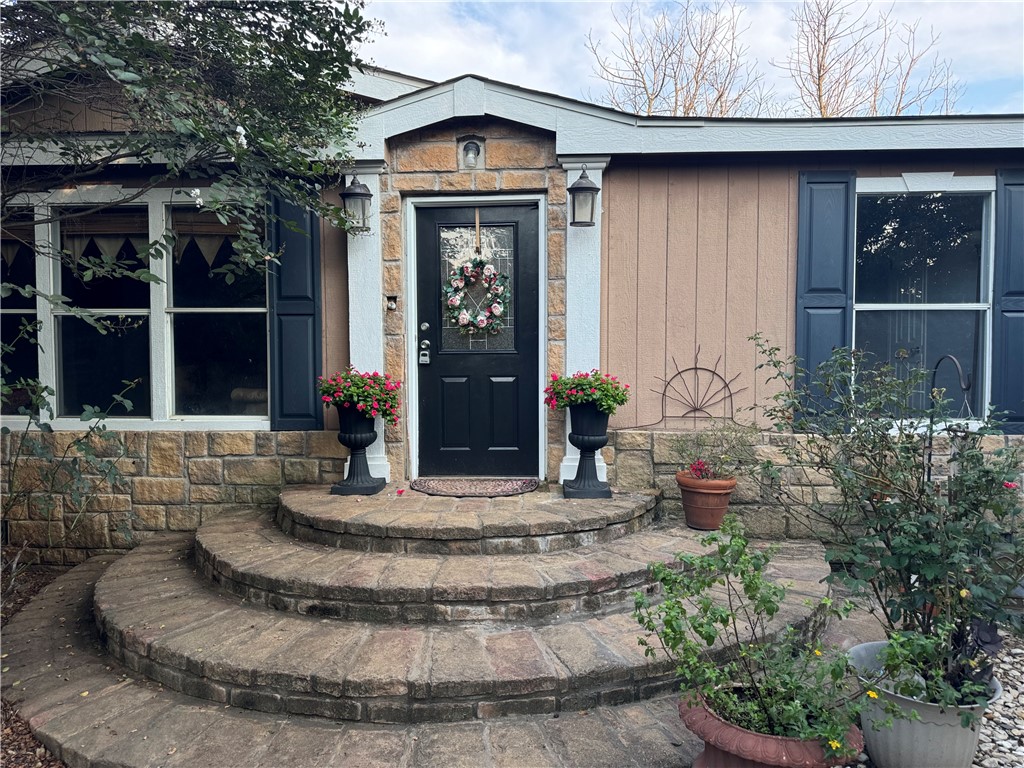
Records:
[[[299,542],[272,515],[242,510],[203,523],[200,570],[257,604],[316,616],[414,624],[553,616],[632,604],[647,565],[699,550],[699,531],[659,523],[639,534],[546,555],[356,552]]]

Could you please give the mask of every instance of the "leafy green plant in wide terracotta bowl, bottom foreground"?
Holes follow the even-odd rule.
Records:
[[[855,758],[863,690],[842,653],[776,617],[785,587],[766,577],[772,550],[751,547],[734,515],[701,543],[703,554],[676,556],[681,567],[650,566],[663,599],[638,593],[634,612],[645,653],[676,665],[680,717],[705,740],[694,765],[823,768]]]

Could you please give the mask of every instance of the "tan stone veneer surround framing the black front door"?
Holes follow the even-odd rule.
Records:
[[[482,162],[460,170],[458,139],[482,137]],[[479,140],[479,139],[477,139]],[[458,120],[402,134],[388,143],[388,165],[381,175],[381,248],[384,294],[399,296],[398,308],[385,312],[384,365],[399,379],[413,371],[406,365],[404,244],[402,200],[410,196],[502,195],[531,193],[546,196],[547,221],[547,370],[561,373],[565,364],[565,177],[555,156],[554,135],[496,119]],[[540,391],[538,398],[540,401]],[[406,424],[386,427],[391,476],[408,476]],[[565,440],[563,413],[548,415],[548,478],[558,478]]]

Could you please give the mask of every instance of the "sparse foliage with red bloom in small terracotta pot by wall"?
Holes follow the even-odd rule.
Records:
[[[735,477],[758,463],[757,427],[732,419],[710,419],[699,430],[682,432],[672,442],[680,468],[694,477]]]

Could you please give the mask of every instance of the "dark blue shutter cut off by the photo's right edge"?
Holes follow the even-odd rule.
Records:
[[[1024,169],[995,176],[992,408],[1005,432],[1024,433]]]

